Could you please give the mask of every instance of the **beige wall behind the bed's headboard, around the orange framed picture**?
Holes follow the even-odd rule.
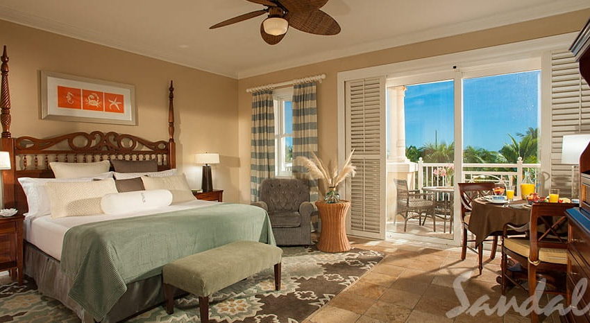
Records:
[[[50,137],[75,131],[115,131],[151,140],[168,138],[169,80],[174,80],[177,166],[200,188],[195,152],[219,152],[214,186],[239,197],[237,80],[0,20],[8,46],[12,136]],[[39,71],[56,71],[135,85],[138,125],[45,121],[39,112]]]

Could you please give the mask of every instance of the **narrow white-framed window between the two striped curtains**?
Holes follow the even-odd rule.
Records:
[[[290,177],[293,166],[293,89],[276,90],[273,96],[275,110],[275,175]]]

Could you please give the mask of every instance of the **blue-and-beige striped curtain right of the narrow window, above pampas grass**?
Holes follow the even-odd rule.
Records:
[[[309,82],[293,87],[293,159],[317,154],[317,84]],[[307,169],[301,165],[292,168],[294,177],[307,179]],[[310,200],[318,199],[316,180],[310,180]]]

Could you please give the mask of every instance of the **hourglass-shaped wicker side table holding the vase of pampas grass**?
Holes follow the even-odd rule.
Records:
[[[346,236],[346,213],[351,202],[341,200],[339,203],[327,204],[317,201],[321,233],[317,248],[323,252],[345,252],[351,250],[351,243]]]

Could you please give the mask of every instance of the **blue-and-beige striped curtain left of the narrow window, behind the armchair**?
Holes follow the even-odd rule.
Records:
[[[274,107],[271,90],[252,94],[250,200],[258,201],[262,180],[274,176]]]

